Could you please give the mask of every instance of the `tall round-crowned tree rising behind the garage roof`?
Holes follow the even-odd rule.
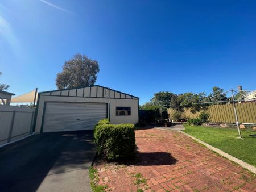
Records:
[[[65,61],[63,71],[57,74],[58,89],[71,89],[79,86],[93,86],[100,66],[96,60],[77,53],[71,60]]]

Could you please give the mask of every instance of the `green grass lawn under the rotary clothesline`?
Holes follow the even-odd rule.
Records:
[[[185,133],[256,166],[256,137],[249,136],[256,136],[256,131],[242,130],[243,139],[237,139],[238,131],[234,128],[189,126],[188,124],[184,124],[184,127]]]

